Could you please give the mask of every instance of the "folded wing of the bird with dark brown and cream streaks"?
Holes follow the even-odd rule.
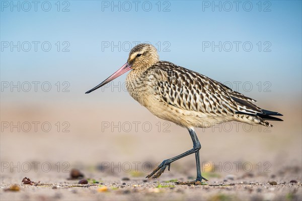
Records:
[[[162,101],[177,108],[214,116],[262,113],[254,99],[173,63],[158,62],[147,73]]]

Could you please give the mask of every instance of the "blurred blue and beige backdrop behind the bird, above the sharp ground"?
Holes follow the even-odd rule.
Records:
[[[0,17],[2,183],[64,181],[72,168],[143,178],[191,149],[186,129],[130,97],[126,75],[85,94],[143,42],[284,115],[273,128],[196,129],[203,172],[301,180],[300,1],[1,1]],[[163,177],[195,171],[192,155]]]

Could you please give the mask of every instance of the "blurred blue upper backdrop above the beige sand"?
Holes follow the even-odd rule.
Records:
[[[162,60],[218,81],[301,93],[301,1],[57,2],[1,1],[1,81],[68,81],[82,93],[126,62],[129,44],[149,41]]]

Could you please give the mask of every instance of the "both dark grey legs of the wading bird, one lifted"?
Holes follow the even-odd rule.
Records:
[[[178,156],[175,156],[173,158],[164,160],[152,173],[150,173],[149,175],[146,176],[146,178],[158,178],[162,175],[162,173],[165,171],[165,169],[168,166],[168,170],[170,171],[170,164],[178,159],[181,159],[185,156],[188,156],[192,153],[195,153],[195,159],[196,159],[196,169],[197,169],[197,178],[196,181],[201,181],[202,179],[206,180],[206,178],[201,176],[201,171],[200,171],[200,159],[199,159],[199,149],[201,148],[201,145],[199,143],[199,140],[197,138],[197,135],[195,133],[194,130],[192,129],[188,129],[190,136],[192,138],[193,141],[193,149],[190,149],[189,151],[186,151],[185,153],[182,153]]]

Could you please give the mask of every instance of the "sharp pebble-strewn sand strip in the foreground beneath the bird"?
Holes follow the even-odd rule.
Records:
[[[237,174],[240,178],[236,175],[234,180],[208,177],[210,181],[207,185],[175,185],[174,181],[169,181],[171,178],[188,179],[179,173],[147,181],[143,177],[130,176],[130,180],[122,180],[121,177],[105,176],[100,180],[102,183],[89,184],[77,184],[78,180],[66,180],[53,175],[51,180],[56,182],[36,185],[16,182],[20,186],[19,191],[5,190],[11,185],[5,184],[9,183],[5,181],[11,181],[12,178],[4,177],[1,184],[1,200],[301,200],[302,184],[288,181],[288,178],[297,178],[298,174],[300,170],[275,178],[267,174]],[[102,174],[98,172],[89,175],[99,178]],[[36,177],[39,176],[33,178]],[[231,175],[228,177],[232,178]],[[273,180],[277,181],[276,185],[268,183]]]

